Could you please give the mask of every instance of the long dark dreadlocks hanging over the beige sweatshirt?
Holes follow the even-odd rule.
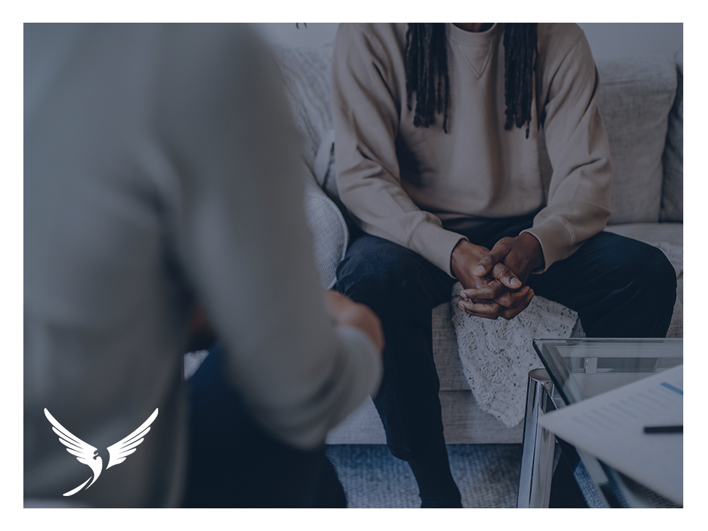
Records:
[[[506,24],[503,42],[506,101],[504,129],[510,130],[513,125],[521,128],[526,124],[526,138],[528,138],[534,92],[533,72],[538,57],[536,24]],[[413,92],[416,93],[416,114],[413,125],[428,127],[435,123],[435,113],[442,113],[442,130],[447,133],[450,77],[447,75],[446,46],[445,24],[411,23],[408,25],[406,92],[408,101],[411,101]],[[410,104],[408,109],[413,110]]]

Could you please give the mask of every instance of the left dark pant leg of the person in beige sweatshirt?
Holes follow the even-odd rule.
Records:
[[[384,375],[374,404],[389,448],[406,461],[442,434],[432,309],[450,300],[453,282],[417,253],[368,234],[353,242],[337,270],[337,290],[382,321]]]

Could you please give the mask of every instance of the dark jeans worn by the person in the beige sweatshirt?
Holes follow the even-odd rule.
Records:
[[[462,234],[491,249],[531,223],[505,219]],[[536,295],[578,312],[588,337],[666,336],[676,296],[676,275],[661,251],[607,232],[527,282]],[[416,459],[442,432],[431,312],[450,301],[454,283],[417,253],[361,232],[337,270],[336,289],[382,321],[384,376],[374,404],[399,459]]]

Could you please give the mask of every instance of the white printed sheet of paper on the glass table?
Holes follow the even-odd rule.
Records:
[[[644,433],[644,426],[683,425],[683,365],[552,411],[539,423],[683,504],[683,433]]]

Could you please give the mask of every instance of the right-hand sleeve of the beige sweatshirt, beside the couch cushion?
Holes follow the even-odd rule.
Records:
[[[583,33],[557,69],[544,75],[552,78],[543,127],[553,174],[547,206],[524,232],[539,240],[545,270],[605,229],[612,166],[598,108],[600,79]]]

